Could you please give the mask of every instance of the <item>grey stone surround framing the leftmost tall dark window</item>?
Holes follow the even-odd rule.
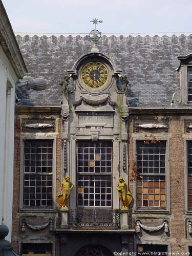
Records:
[[[37,208],[24,207],[23,205],[23,191],[24,191],[24,140],[53,140],[53,206],[51,208],[44,208],[43,206]],[[55,211],[56,210],[56,137],[49,136],[22,136],[20,138],[20,192],[19,192],[19,211]]]

